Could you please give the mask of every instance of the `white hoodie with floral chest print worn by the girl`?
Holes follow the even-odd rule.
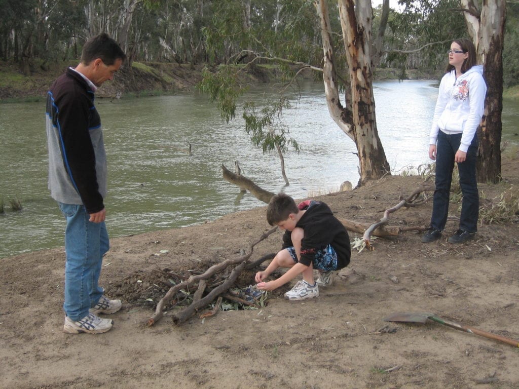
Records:
[[[463,133],[459,150],[467,152],[483,116],[485,94],[483,66],[472,66],[458,79],[455,69],[446,73],[440,82],[429,144],[436,144],[438,131]]]

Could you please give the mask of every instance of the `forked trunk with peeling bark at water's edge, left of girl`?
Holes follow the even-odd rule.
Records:
[[[375,118],[370,57],[371,3],[369,0],[358,0],[356,6],[353,0],[338,0],[350,80],[345,99],[346,107],[343,107],[339,100],[326,0],[314,0],[314,4],[321,21],[326,102],[339,128],[352,138],[357,146],[360,164],[359,185],[363,185],[367,180],[390,174],[384,147],[378,137]]]

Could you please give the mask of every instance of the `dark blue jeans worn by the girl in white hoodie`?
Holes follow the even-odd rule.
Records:
[[[461,142],[461,134],[447,135],[440,131],[436,145],[436,189],[432,206],[431,228],[442,231],[445,228],[449,210],[449,192],[454,170],[454,156]],[[476,181],[477,136],[467,150],[465,162],[458,163],[459,184],[463,193],[459,228],[477,231],[479,216],[479,193]]]

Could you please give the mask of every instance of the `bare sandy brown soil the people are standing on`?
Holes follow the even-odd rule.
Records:
[[[487,199],[510,184],[517,188],[518,161],[503,163],[506,185],[480,185]],[[337,216],[374,223],[420,182],[388,177],[320,199]],[[430,212],[430,203],[401,209],[390,224],[423,227]],[[264,213],[259,207],[113,239],[101,281],[125,305],[112,315],[114,329],[101,335],[62,332],[62,248],[2,259],[0,387],[519,388],[518,349],[511,345],[433,322],[383,321],[395,312],[431,312],[519,339],[517,221],[482,225],[475,241],[461,245],[422,244],[413,231],[375,239],[375,251],[354,251],[319,298],[285,300],[286,285],[260,310],[200,319],[201,310],[175,325],[171,309],[146,326],[154,303],[145,300],[156,302],[153,293],[167,290],[159,274],[181,278],[240,257],[270,228]],[[447,225],[449,233],[455,229]],[[280,238],[275,232],[256,245],[251,260],[276,252]],[[241,286],[253,282],[251,274]]]

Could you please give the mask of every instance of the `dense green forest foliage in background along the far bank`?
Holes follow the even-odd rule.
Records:
[[[36,59],[77,59],[88,37],[104,31],[118,38],[129,4],[135,4],[135,10],[126,49],[136,61],[244,64],[284,58],[321,63],[319,24],[311,0],[0,0],[0,58],[31,65]],[[389,17],[381,66],[443,68],[448,41],[467,36],[459,0],[400,4],[403,11],[393,10]],[[510,87],[519,83],[519,3],[508,1],[507,7],[503,62],[504,86]],[[330,6],[330,12],[335,66],[337,74],[344,74],[337,6]],[[373,10],[373,31],[380,15],[378,6]],[[292,70],[289,63],[278,64]],[[25,65],[24,74],[30,68]]]

